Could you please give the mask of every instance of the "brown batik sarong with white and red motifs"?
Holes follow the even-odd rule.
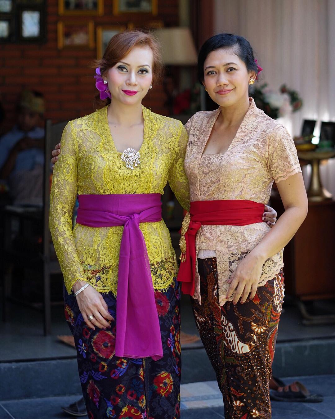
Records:
[[[196,325],[216,372],[226,419],[271,418],[269,381],[283,272],[258,287],[253,300],[219,305],[216,258],[198,259],[201,302],[193,300]]]

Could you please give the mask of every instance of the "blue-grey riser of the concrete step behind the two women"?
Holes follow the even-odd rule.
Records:
[[[273,373],[292,375],[335,374],[335,339],[278,343]],[[215,380],[204,348],[182,351],[183,384]],[[0,363],[0,400],[66,396],[81,392],[77,360],[36,360]]]

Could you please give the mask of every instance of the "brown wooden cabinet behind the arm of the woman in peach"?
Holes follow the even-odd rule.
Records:
[[[278,215],[280,197],[271,199]],[[309,202],[308,214],[284,250],[287,295],[300,300],[335,297],[335,201]]]

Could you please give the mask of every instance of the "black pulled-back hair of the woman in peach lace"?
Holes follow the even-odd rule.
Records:
[[[198,55],[198,80],[204,81],[204,62],[212,51],[216,49],[232,49],[247,67],[248,71],[258,73],[258,67],[255,63],[253,49],[243,36],[234,34],[217,34],[207,39],[200,49]]]

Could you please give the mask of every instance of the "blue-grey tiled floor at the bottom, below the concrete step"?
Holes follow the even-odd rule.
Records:
[[[284,378],[287,383],[299,380],[312,393],[324,396],[322,403],[272,402],[273,419],[335,419],[335,375]],[[67,406],[79,396],[0,402],[0,419],[67,419],[60,406]],[[216,382],[181,386],[181,419],[224,418],[221,393]],[[84,419],[88,419],[87,416]]]

